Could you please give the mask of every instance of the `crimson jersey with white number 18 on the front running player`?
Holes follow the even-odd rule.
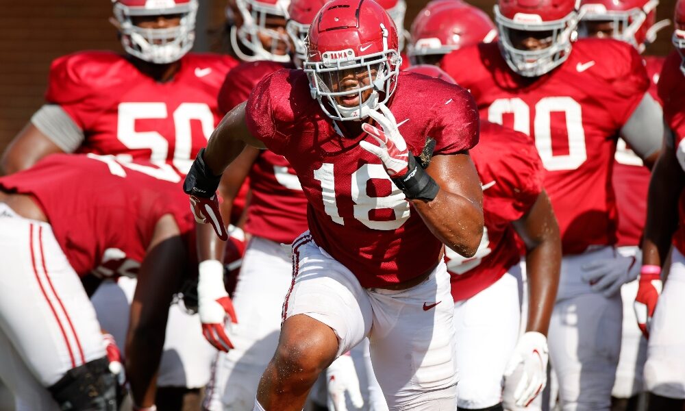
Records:
[[[388,107],[412,153],[421,153],[429,137],[436,140],[436,155],[477,143],[475,103],[459,86],[399,73]],[[303,71],[283,70],[263,79],[247,102],[246,117],[253,136],[295,169],[309,201],[308,225],[316,243],[362,286],[404,282],[436,264],[443,245],[381,161],[359,146],[366,137],[360,123],[332,122],[312,99]],[[341,137],[336,128],[352,137]]]

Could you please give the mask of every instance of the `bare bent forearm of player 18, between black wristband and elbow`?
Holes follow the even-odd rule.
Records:
[[[412,206],[438,240],[461,256],[472,257],[483,236],[483,210],[479,203],[447,190],[432,201],[412,200]]]

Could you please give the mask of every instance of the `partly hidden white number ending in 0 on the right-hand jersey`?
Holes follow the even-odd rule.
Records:
[[[564,113],[569,153],[555,155],[552,151],[551,114]],[[518,97],[497,99],[488,108],[488,120],[502,124],[504,114],[514,114],[514,129],[530,136],[530,107]],[[535,146],[545,169],[549,171],[575,170],[588,159],[585,147],[582,108],[571,97],[545,97],[535,105]]]

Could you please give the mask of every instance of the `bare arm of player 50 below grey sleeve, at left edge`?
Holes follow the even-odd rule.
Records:
[[[59,145],[33,123],[28,123],[3,152],[0,174],[8,175],[28,169],[49,154],[63,152]]]

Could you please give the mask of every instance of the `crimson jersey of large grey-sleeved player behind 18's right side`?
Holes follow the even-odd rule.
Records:
[[[441,64],[471,91],[484,119],[534,138],[564,253],[615,244],[616,138],[649,87],[637,51],[616,40],[578,40],[566,62],[537,78],[512,72],[497,42],[453,51]]]

